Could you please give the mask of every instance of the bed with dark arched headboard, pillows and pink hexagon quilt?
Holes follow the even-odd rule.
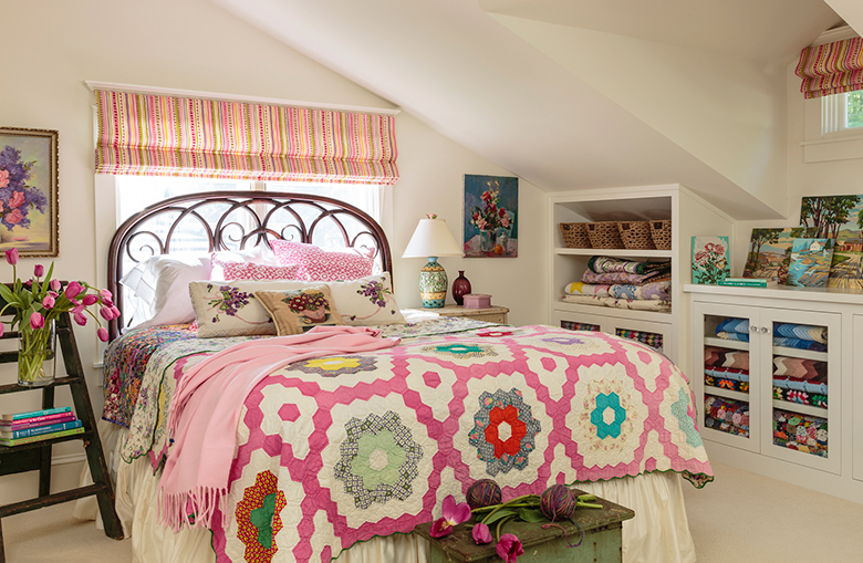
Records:
[[[208,256],[212,268],[219,252],[239,253],[236,263],[242,264],[254,249],[324,246],[321,241],[332,246],[334,240],[343,252],[371,261],[368,279],[376,280],[371,300],[366,278],[331,279],[325,289],[320,281],[212,283],[204,278],[187,284],[189,298],[177,291],[177,283],[185,284],[179,275],[171,291],[166,291],[171,285],[150,283],[149,294],[138,288],[128,294],[131,278],[138,283],[146,278],[142,264],[169,257]],[[314,256],[300,260],[309,267],[301,270],[305,277],[315,264],[303,261],[314,261]],[[248,268],[272,273],[269,265]],[[227,271],[226,265],[216,280]],[[670,361],[643,344],[601,333],[404,317],[392,295],[391,275],[392,254],[379,226],[358,209],[322,197],[247,191],[180,196],[118,228],[107,288],[123,314],[110,322],[100,430],[135,561],[423,562],[427,544],[409,532],[438,518],[447,494],[464,498],[481,478],[495,479],[505,499],[538,494],[555,482],[578,482],[580,489],[635,510],[636,518],[624,526],[627,563],[695,561],[682,488],[689,486],[686,481],[700,488],[713,472],[688,382]],[[281,291],[287,298],[280,302],[289,304],[302,292],[329,290],[325,295],[347,326],[333,322],[324,329],[352,331],[352,338],[362,333],[375,342],[372,348],[281,361],[252,384],[243,383],[248,389],[236,394],[236,407],[207,415],[197,407],[189,414],[187,407],[181,417],[171,418],[171,400],[176,409],[187,397],[199,397],[202,392],[188,390],[190,382],[219,362],[228,365],[235,362],[229,357],[243,353],[230,365],[264,365],[259,359],[278,355],[277,344],[294,345],[294,336],[273,337],[272,324],[281,333],[300,322],[324,322],[295,314],[285,321],[282,311],[268,309],[267,330],[261,329],[264,320],[247,323],[254,326],[251,332],[231,332],[212,313],[223,307],[201,312],[201,303],[229,301],[214,299],[208,288],[216,295],[242,291],[261,303]],[[196,291],[205,293],[196,298]],[[354,293],[371,301],[375,313],[366,315],[358,304],[354,309]],[[189,319],[148,319],[125,329],[136,315],[153,315],[148,303],[135,303],[142,301],[139,294],[160,300],[168,312],[179,306],[173,300],[185,306],[191,299],[195,325],[189,326]],[[392,316],[381,317],[382,312]],[[318,331],[299,336],[329,337],[309,336]],[[248,374],[240,372],[235,377],[242,380]],[[228,385],[210,384],[221,382],[216,377],[206,380]],[[210,393],[220,394],[214,399],[219,405],[235,395]],[[226,413],[233,408],[237,423],[231,426]],[[223,424],[236,430],[205,436]],[[200,450],[191,439],[185,441],[196,434]],[[227,475],[220,477],[227,482],[223,493],[196,497],[195,503],[189,497],[180,497],[181,502],[166,497],[176,476],[191,467],[218,472],[216,461],[210,467],[201,460],[218,458],[207,453],[210,440],[223,441],[226,434],[231,455]],[[170,521],[176,533],[160,522],[160,503],[173,507],[166,511],[179,511]],[[76,514],[95,517],[94,507],[82,501]]]

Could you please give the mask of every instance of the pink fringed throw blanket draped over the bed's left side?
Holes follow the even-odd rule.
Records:
[[[263,377],[293,362],[398,343],[382,338],[379,329],[316,326],[304,334],[237,344],[189,369],[168,411],[173,446],[159,480],[162,522],[175,532],[187,525],[212,528],[216,508],[225,513],[237,424],[243,402]]]

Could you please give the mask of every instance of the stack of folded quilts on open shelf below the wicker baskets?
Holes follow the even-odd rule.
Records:
[[[635,262],[592,257],[581,281],[564,289],[563,301],[641,311],[672,310],[670,262]]]

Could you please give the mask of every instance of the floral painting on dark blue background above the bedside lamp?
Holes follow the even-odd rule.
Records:
[[[465,175],[465,258],[516,258],[519,179]]]

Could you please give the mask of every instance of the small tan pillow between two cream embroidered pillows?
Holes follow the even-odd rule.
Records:
[[[324,283],[299,290],[256,291],[275,322],[279,336],[301,334],[315,326],[344,324]]]

